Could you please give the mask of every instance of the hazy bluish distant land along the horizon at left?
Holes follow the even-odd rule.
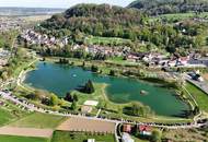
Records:
[[[0,15],[51,15],[63,11],[65,9],[0,7]]]

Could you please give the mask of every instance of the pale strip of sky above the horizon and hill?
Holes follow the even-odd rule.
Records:
[[[0,0],[0,7],[70,8],[78,3],[109,3],[126,7],[134,0]]]

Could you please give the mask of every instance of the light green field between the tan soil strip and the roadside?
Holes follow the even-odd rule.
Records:
[[[44,129],[56,128],[63,120],[65,120],[65,117],[61,117],[61,116],[34,113],[13,123],[10,123],[10,126],[26,127],[26,128],[44,128]]]

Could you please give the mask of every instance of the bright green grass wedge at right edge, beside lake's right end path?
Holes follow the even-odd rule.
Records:
[[[186,88],[195,97],[199,108],[208,113],[208,95],[190,83],[186,83]]]

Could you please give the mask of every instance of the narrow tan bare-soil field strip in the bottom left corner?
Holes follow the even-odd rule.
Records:
[[[0,134],[19,135],[19,137],[50,138],[53,135],[53,130],[51,129],[2,127],[2,128],[0,128]]]

